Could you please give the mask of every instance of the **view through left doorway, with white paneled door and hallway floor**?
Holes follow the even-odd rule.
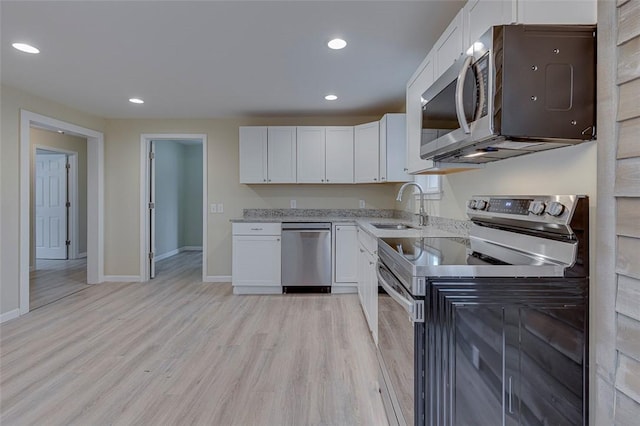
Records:
[[[87,139],[31,128],[29,309],[87,284]]]

